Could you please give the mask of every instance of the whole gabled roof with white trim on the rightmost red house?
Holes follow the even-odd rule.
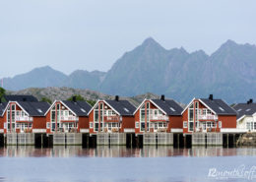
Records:
[[[230,107],[222,99],[209,99],[209,98],[193,98],[189,104],[184,108],[182,113],[193,103],[195,99],[198,99],[203,105],[210,109],[214,114],[217,115],[236,115],[236,111]]]

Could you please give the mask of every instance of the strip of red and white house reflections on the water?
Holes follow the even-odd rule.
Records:
[[[231,156],[256,155],[255,148],[193,147],[175,149],[173,147],[146,146],[143,149],[127,149],[124,146],[99,146],[96,149],[83,149],[80,146],[54,146],[36,149],[32,146],[8,146],[0,148],[0,156],[9,157],[165,157],[165,156]]]

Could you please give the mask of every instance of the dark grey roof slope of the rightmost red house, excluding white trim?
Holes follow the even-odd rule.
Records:
[[[200,98],[208,107],[218,115],[236,115],[236,111],[227,105],[222,99]]]

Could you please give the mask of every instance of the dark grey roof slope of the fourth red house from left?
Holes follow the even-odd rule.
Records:
[[[181,115],[183,108],[173,99],[152,99],[168,116]]]

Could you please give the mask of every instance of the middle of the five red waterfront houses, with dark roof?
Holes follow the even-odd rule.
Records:
[[[136,107],[128,100],[98,100],[89,113],[90,134],[134,133],[133,112]]]

